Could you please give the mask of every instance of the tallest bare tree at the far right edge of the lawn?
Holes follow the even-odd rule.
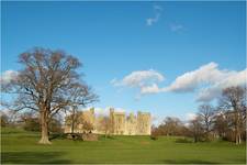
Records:
[[[233,125],[236,144],[242,143],[242,131],[246,129],[246,89],[229,87],[223,90],[220,99],[221,109],[234,117]]]

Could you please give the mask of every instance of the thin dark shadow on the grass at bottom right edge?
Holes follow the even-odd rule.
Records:
[[[202,160],[165,160],[165,164],[217,164],[215,162]]]

